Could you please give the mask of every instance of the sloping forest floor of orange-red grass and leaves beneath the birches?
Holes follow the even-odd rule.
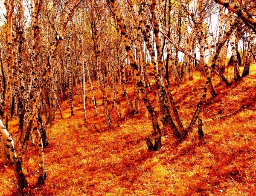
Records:
[[[172,85],[185,127],[189,125],[201,97],[205,79]],[[49,146],[44,150],[47,179],[42,187],[38,178],[37,150],[29,146],[23,170],[29,182],[27,195],[41,196],[253,196],[256,195],[256,65],[249,76],[226,88],[214,77],[217,97],[207,93],[200,118],[204,139],[199,141],[197,125],[189,137],[177,143],[164,130],[163,147],[148,153],[145,137],[152,134],[150,116],[143,103],[140,112],[129,115],[121,92],[120,127],[109,98],[112,127],[104,123],[101,93],[96,94],[99,115],[95,116],[90,94],[87,119],[75,94],[74,116],[69,101],[61,104],[63,119],[47,127]],[[128,92],[133,92],[128,85]],[[89,88],[88,88],[89,89]],[[153,89],[156,90],[153,85]],[[76,90],[76,89],[74,89]],[[111,93],[110,93],[111,94]],[[160,116],[158,98],[148,93]],[[130,100],[134,95],[130,95]],[[56,109],[58,118],[59,111]],[[9,122],[9,132],[17,145],[18,122]],[[0,195],[17,195],[11,166],[0,162]]]

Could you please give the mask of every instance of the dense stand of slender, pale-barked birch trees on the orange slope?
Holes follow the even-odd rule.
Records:
[[[180,142],[198,120],[202,138],[198,115],[208,89],[212,97],[217,96],[212,77],[229,86],[247,76],[256,61],[256,3],[252,0],[5,0],[4,5],[0,149],[2,161],[12,162],[20,190],[27,186],[21,164],[29,142],[38,147],[38,185],[44,184],[45,125],[52,126],[63,100],[70,100],[70,114],[74,114],[74,91],[81,96],[85,123],[86,105],[93,105],[98,114],[95,91],[102,93],[108,126],[115,124],[109,115],[110,97],[118,126],[125,115],[117,101],[119,89],[131,115],[140,111],[143,102],[154,137],[154,141],[146,138],[146,143],[149,151],[157,151],[162,145],[158,119]],[[232,56],[228,62],[229,51]],[[232,79],[225,76],[227,65],[233,67]],[[239,67],[244,67],[242,74]],[[207,80],[185,128],[170,84],[193,80],[196,71]],[[148,99],[148,92],[154,91],[151,72],[160,116]],[[134,92],[128,91],[128,82],[134,85]],[[46,116],[45,124],[41,115]],[[20,156],[7,131],[12,129],[8,119],[13,116],[19,118]]]

